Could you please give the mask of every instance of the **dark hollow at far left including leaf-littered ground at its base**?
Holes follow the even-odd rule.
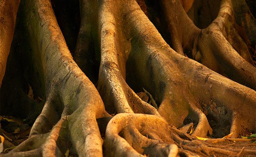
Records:
[[[12,122],[1,119],[0,133],[3,136],[5,132],[11,139],[6,138],[5,148],[17,146],[28,138],[31,127],[45,103],[42,64],[38,56],[32,55],[35,45],[31,44],[23,18],[19,9],[0,90],[0,115],[13,117],[8,117],[13,119]]]

